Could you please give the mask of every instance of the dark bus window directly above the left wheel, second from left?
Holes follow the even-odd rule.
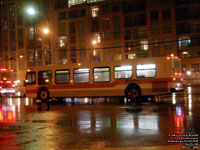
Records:
[[[51,83],[52,83],[52,72],[50,70],[38,72],[39,85],[49,85]]]

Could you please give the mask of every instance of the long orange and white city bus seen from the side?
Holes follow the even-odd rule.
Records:
[[[27,70],[27,97],[126,97],[132,101],[182,89],[178,57],[62,64]]]

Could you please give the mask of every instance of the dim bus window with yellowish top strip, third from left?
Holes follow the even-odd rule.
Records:
[[[56,84],[68,84],[70,82],[69,69],[56,70],[55,78]]]

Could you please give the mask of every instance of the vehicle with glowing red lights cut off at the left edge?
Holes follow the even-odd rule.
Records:
[[[14,95],[16,86],[13,81],[13,70],[0,68],[0,95]]]

